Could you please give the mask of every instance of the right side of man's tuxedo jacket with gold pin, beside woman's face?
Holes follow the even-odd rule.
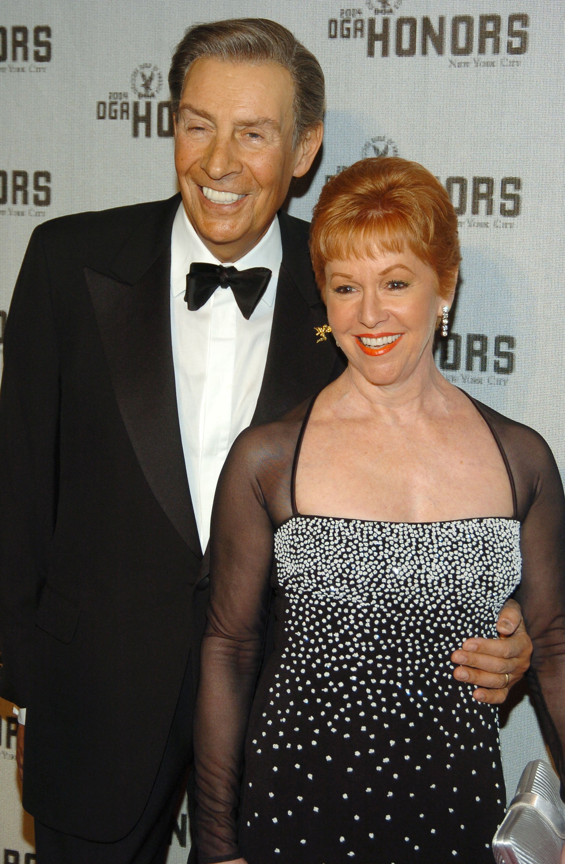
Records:
[[[297,223],[279,213],[283,260],[267,365],[252,425],[291,410],[344,368],[333,339],[317,342],[316,327],[328,319],[317,293],[304,229],[298,230]]]

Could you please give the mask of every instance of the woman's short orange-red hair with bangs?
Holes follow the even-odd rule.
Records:
[[[397,156],[361,159],[325,184],[314,207],[310,251],[325,297],[325,265],[375,251],[414,255],[436,270],[449,295],[461,261],[457,216],[440,181],[417,162]]]

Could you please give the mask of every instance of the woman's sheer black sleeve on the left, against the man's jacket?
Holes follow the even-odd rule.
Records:
[[[199,864],[239,857],[243,746],[263,654],[273,534],[292,515],[301,415],[242,433],[218,482],[194,727]]]

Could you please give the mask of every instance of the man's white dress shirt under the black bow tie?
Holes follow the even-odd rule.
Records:
[[[185,303],[186,274],[194,262],[221,264],[179,206],[171,238],[171,334],[180,436],[200,545],[210,537],[217,479],[229,448],[248,427],[261,390],[282,260],[279,219],[254,248],[231,264],[268,267],[272,276],[247,321],[230,288],[218,288],[196,312]]]

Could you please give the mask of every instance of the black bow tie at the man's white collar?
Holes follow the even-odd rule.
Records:
[[[267,267],[237,270],[221,264],[191,264],[186,276],[185,301],[191,312],[196,312],[210,300],[218,287],[230,288],[243,317],[249,321],[254,308],[265,294],[270,278],[271,270]]]

